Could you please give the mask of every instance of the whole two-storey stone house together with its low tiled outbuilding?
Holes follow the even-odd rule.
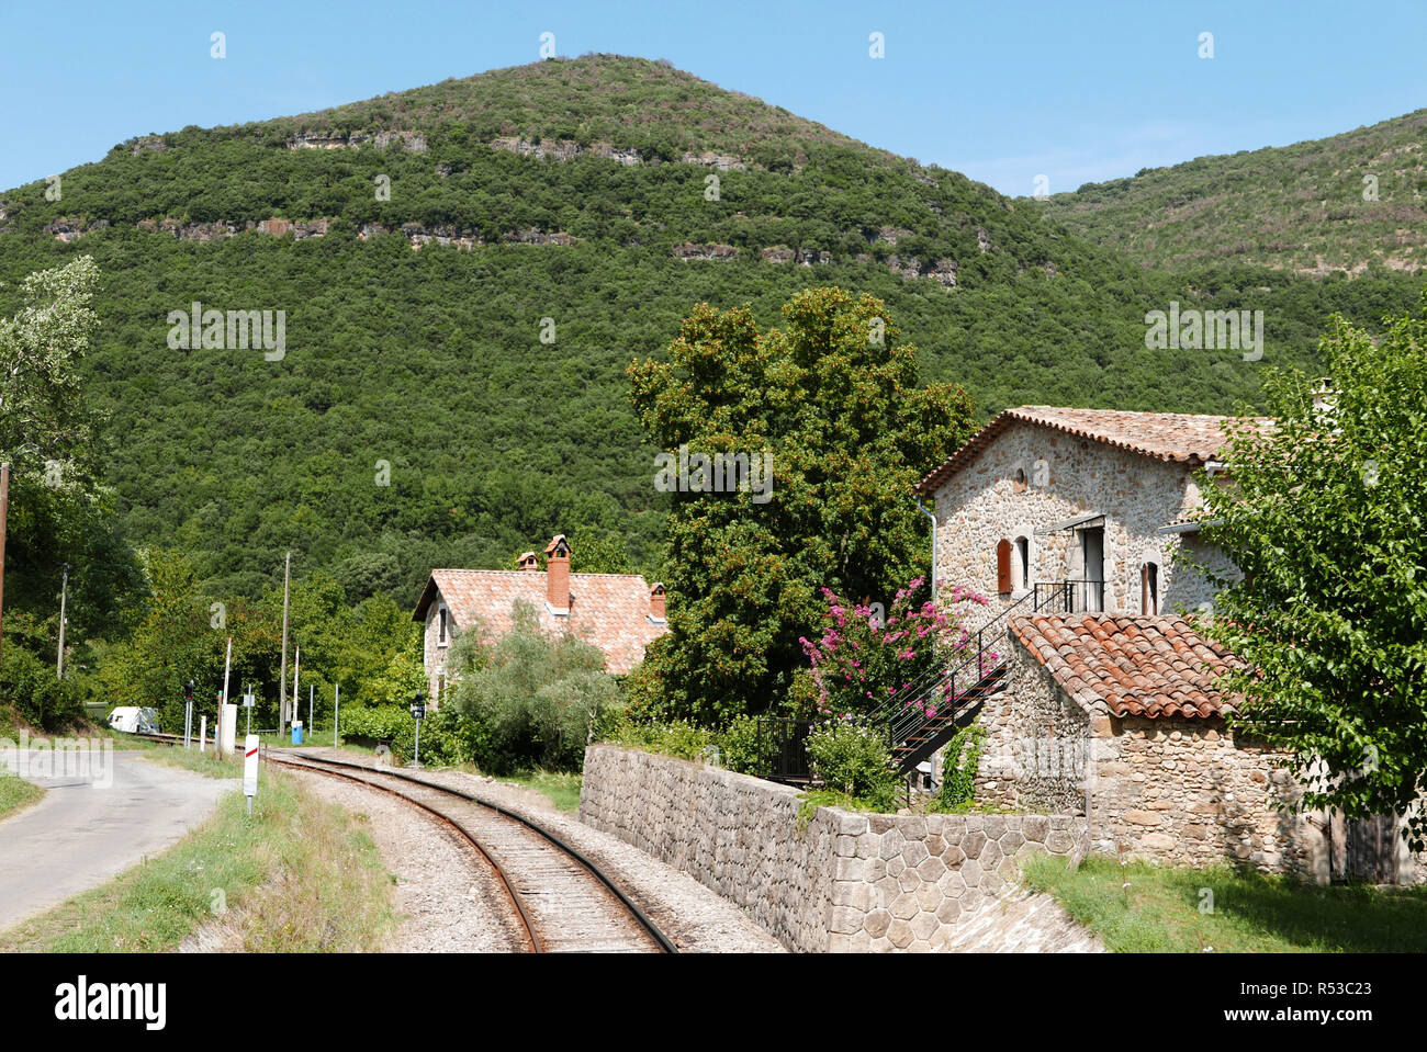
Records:
[[[1167,864],[1427,880],[1398,817],[1294,814],[1279,757],[1226,724],[1234,698],[1216,681],[1237,659],[1200,633],[1214,592],[1200,567],[1237,570],[1189,522],[1223,421],[1022,406],[922,482],[938,586],[995,596],[972,626],[995,667],[958,721],[986,731],[977,798],[1083,815],[1092,850]]]

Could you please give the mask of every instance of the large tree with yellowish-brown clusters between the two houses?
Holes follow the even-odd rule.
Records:
[[[701,304],[666,358],[628,369],[651,440],[691,463],[668,517],[669,633],[632,683],[651,711],[718,723],[788,698],[821,587],[889,604],[926,563],[912,486],[966,439],[970,399],[920,386],[879,299],[816,288],[783,318],[761,331]],[[771,486],[699,492],[699,453],[771,458]]]

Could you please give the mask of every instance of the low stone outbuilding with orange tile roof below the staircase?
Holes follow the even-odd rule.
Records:
[[[979,798],[1086,815],[1095,851],[1329,878],[1324,818],[1293,814],[1293,777],[1226,726],[1233,654],[1179,617],[1030,616],[1010,636]]]

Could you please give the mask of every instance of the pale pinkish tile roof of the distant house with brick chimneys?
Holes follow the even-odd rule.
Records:
[[[569,574],[569,616],[557,617],[545,604],[545,572],[535,570],[432,570],[412,620],[424,622],[437,592],[457,629],[479,619],[487,630],[511,630],[517,599],[528,599],[547,631],[569,631],[605,651],[605,669],[624,676],[644,660],[644,649],[668,631],[649,620],[649,586],[632,573]]]

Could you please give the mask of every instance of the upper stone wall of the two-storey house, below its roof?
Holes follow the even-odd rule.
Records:
[[[1016,483],[1017,469],[1026,476],[1023,489]],[[987,596],[992,603],[976,620],[989,620],[1026,594],[1019,573],[1016,590],[997,594],[1002,537],[1027,539],[1032,583],[1082,580],[1086,572],[1076,532],[1036,535],[1036,529],[1103,512],[1104,609],[1142,613],[1140,567],[1153,562],[1160,613],[1194,610],[1213,599],[1213,589],[1202,573],[1174,562],[1180,536],[1157,530],[1197,506],[1199,488],[1186,465],[1017,421],[936,490],[938,580]],[[1187,543],[1212,570],[1233,573],[1217,549]]]

